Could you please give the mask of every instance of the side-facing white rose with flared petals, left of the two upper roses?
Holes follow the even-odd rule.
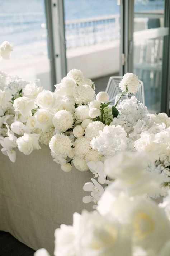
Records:
[[[24,117],[31,115],[31,110],[37,108],[35,101],[27,97],[20,97],[14,100],[13,107],[15,111],[19,111]]]

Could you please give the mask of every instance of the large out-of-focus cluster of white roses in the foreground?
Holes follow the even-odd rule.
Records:
[[[55,230],[55,256],[169,256],[170,193],[157,205],[160,177],[146,172],[147,158],[121,152],[104,163],[116,181],[104,191],[97,210],[73,214],[73,225]],[[45,249],[34,256],[49,256]]]

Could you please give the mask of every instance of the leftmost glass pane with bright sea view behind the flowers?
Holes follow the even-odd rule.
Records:
[[[0,0],[0,42],[13,45],[10,60],[0,70],[32,81],[41,79],[51,89],[44,0]]]

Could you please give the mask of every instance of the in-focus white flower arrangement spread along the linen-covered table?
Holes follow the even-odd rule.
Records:
[[[0,46],[3,58],[11,51],[8,42]],[[95,95],[94,83],[78,69],[70,70],[54,92],[0,72],[1,151],[15,162],[15,148],[29,155],[41,148],[39,143],[45,144],[64,172],[72,166],[90,170],[93,177],[84,185],[90,195],[83,201],[93,202],[94,209],[106,184],[113,182],[103,163],[121,151],[146,153],[146,169],[159,173],[162,186],[169,189],[170,118],[165,113],[150,115],[133,96],[138,86],[135,74],[125,74],[119,84],[122,94],[110,106],[108,93]],[[120,103],[124,93],[129,98]]]

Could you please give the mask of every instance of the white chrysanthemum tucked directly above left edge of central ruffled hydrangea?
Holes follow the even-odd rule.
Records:
[[[100,121],[94,121],[89,123],[85,129],[85,136],[88,140],[92,140],[94,137],[99,136],[99,131],[103,131],[105,124]]]

